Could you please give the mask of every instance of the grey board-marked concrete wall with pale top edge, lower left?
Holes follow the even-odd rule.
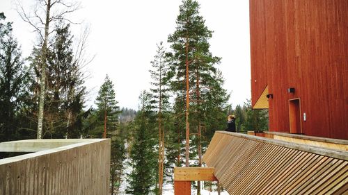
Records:
[[[109,171],[110,140],[79,139],[0,160],[0,194],[109,194]]]

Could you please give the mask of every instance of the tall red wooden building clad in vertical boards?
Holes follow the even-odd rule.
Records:
[[[348,1],[250,0],[250,31],[269,130],[348,139]]]

